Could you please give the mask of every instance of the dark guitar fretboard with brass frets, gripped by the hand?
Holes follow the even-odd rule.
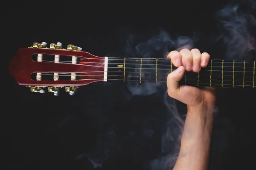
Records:
[[[166,84],[175,67],[164,58],[107,58],[107,81]],[[255,88],[255,61],[210,60],[199,73],[185,72],[180,84],[188,86]]]

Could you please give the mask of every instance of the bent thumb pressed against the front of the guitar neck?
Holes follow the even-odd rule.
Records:
[[[180,91],[179,81],[183,78],[185,69],[183,66],[178,67],[175,71],[170,73],[167,77],[167,88],[168,95],[172,98],[177,99]]]

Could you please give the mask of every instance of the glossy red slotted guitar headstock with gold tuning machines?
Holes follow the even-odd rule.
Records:
[[[60,88],[73,95],[79,86],[104,81],[105,58],[81,51],[81,47],[61,43],[33,43],[20,48],[9,62],[9,72],[17,83],[28,86],[31,92],[45,93],[44,88],[54,95]]]

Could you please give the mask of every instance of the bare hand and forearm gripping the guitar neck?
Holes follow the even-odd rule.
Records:
[[[188,112],[174,170],[207,170],[212,134],[215,90],[179,86],[186,71],[200,72],[209,63],[209,54],[198,49],[172,51],[170,58],[178,67],[167,78],[168,95],[187,105]]]

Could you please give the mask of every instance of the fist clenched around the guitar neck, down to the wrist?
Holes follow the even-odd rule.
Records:
[[[186,104],[189,107],[213,106],[215,104],[214,88],[199,89],[192,86],[180,86],[179,81],[183,78],[185,70],[200,72],[201,67],[209,63],[209,54],[198,49],[182,49],[180,52],[172,51],[167,58],[170,58],[175,71],[167,77],[168,95]]]

